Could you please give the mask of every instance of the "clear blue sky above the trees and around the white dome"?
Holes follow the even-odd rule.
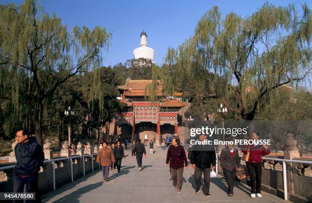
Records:
[[[294,3],[298,9],[312,1],[268,1],[276,6]],[[23,1],[0,0],[0,4]],[[105,26],[113,33],[109,51],[103,51],[103,65],[115,65],[133,58],[133,50],[140,45],[140,33],[147,33],[147,46],[155,50],[154,61],[163,62],[168,47],[176,48],[188,39],[200,17],[214,6],[218,6],[222,15],[235,12],[242,17],[250,16],[265,1],[82,1],[82,0],[38,0],[45,12],[55,13],[62,18],[71,30],[75,25]]]

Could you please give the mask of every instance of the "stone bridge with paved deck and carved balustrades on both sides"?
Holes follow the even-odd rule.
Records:
[[[46,153],[49,150],[47,148],[45,146]],[[154,154],[147,154],[147,158],[143,158],[142,171],[138,171],[136,158],[131,156],[131,150],[125,150],[126,157],[122,160],[121,171],[120,173],[117,173],[117,170],[110,171],[109,182],[103,182],[101,170],[95,162],[96,154],[91,156],[90,146],[88,148],[89,151],[85,152],[89,155],[84,155],[84,158],[70,156],[67,153],[72,161],[70,159],[58,161],[56,158],[60,157],[54,159],[50,157],[51,160],[55,160],[55,172],[53,173],[50,161],[45,163],[39,173],[39,187],[42,191],[43,202],[291,202],[283,200],[282,185],[278,181],[282,179],[282,172],[276,169],[278,164],[276,165],[277,162],[274,161],[264,164],[262,198],[252,199],[249,196],[250,187],[247,186],[246,180],[236,182],[234,196],[227,196],[227,186],[221,176],[221,167],[218,167],[218,177],[211,179],[210,193],[212,196],[206,197],[202,191],[195,194],[196,186],[192,167],[184,170],[183,188],[181,193],[176,192],[170,181],[169,168],[165,165],[168,149],[166,146],[155,146]],[[146,149],[148,151],[147,146]],[[78,146],[77,151],[79,150],[82,150],[81,146]],[[68,152],[68,149],[65,151],[63,149],[63,156],[66,156],[65,152]],[[0,165],[0,167],[3,166]],[[288,172],[291,172],[289,168]],[[1,191],[12,191],[12,170],[0,173],[5,176],[0,182]],[[55,182],[53,176],[55,176]],[[289,193],[289,198],[293,202],[310,202],[312,178],[306,176],[299,178],[292,181],[300,180],[301,187],[303,187],[301,191],[305,193],[301,196]]]

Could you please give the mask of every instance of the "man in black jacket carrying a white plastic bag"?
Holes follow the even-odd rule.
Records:
[[[201,134],[199,136],[200,141],[206,140],[207,136],[205,134]],[[201,176],[202,173],[204,175],[204,189],[203,193],[206,196],[211,196],[209,194],[210,189],[210,172],[211,172],[211,164],[212,170],[216,167],[216,151],[214,149],[214,146],[211,145],[195,145],[192,149],[191,154],[191,163],[192,167],[195,168],[195,182],[197,189],[195,193],[199,193],[200,186],[201,186]]]

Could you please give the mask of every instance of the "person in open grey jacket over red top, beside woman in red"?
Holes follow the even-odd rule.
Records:
[[[229,140],[233,143],[233,139]],[[220,154],[220,165],[223,170],[224,178],[228,187],[228,196],[233,196],[233,187],[237,169],[241,167],[241,159],[234,144],[229,144],[222,149]]]

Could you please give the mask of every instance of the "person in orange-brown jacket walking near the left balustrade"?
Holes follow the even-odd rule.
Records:
[[[100,149],[97,154],[96,162],[101,163],[103,180],[108,182],[110,166],[112,162],[115,162],[115,157],[114,157],[112,149],[108,146],[108,143],[106,141],[103,142],[103,148]]]

